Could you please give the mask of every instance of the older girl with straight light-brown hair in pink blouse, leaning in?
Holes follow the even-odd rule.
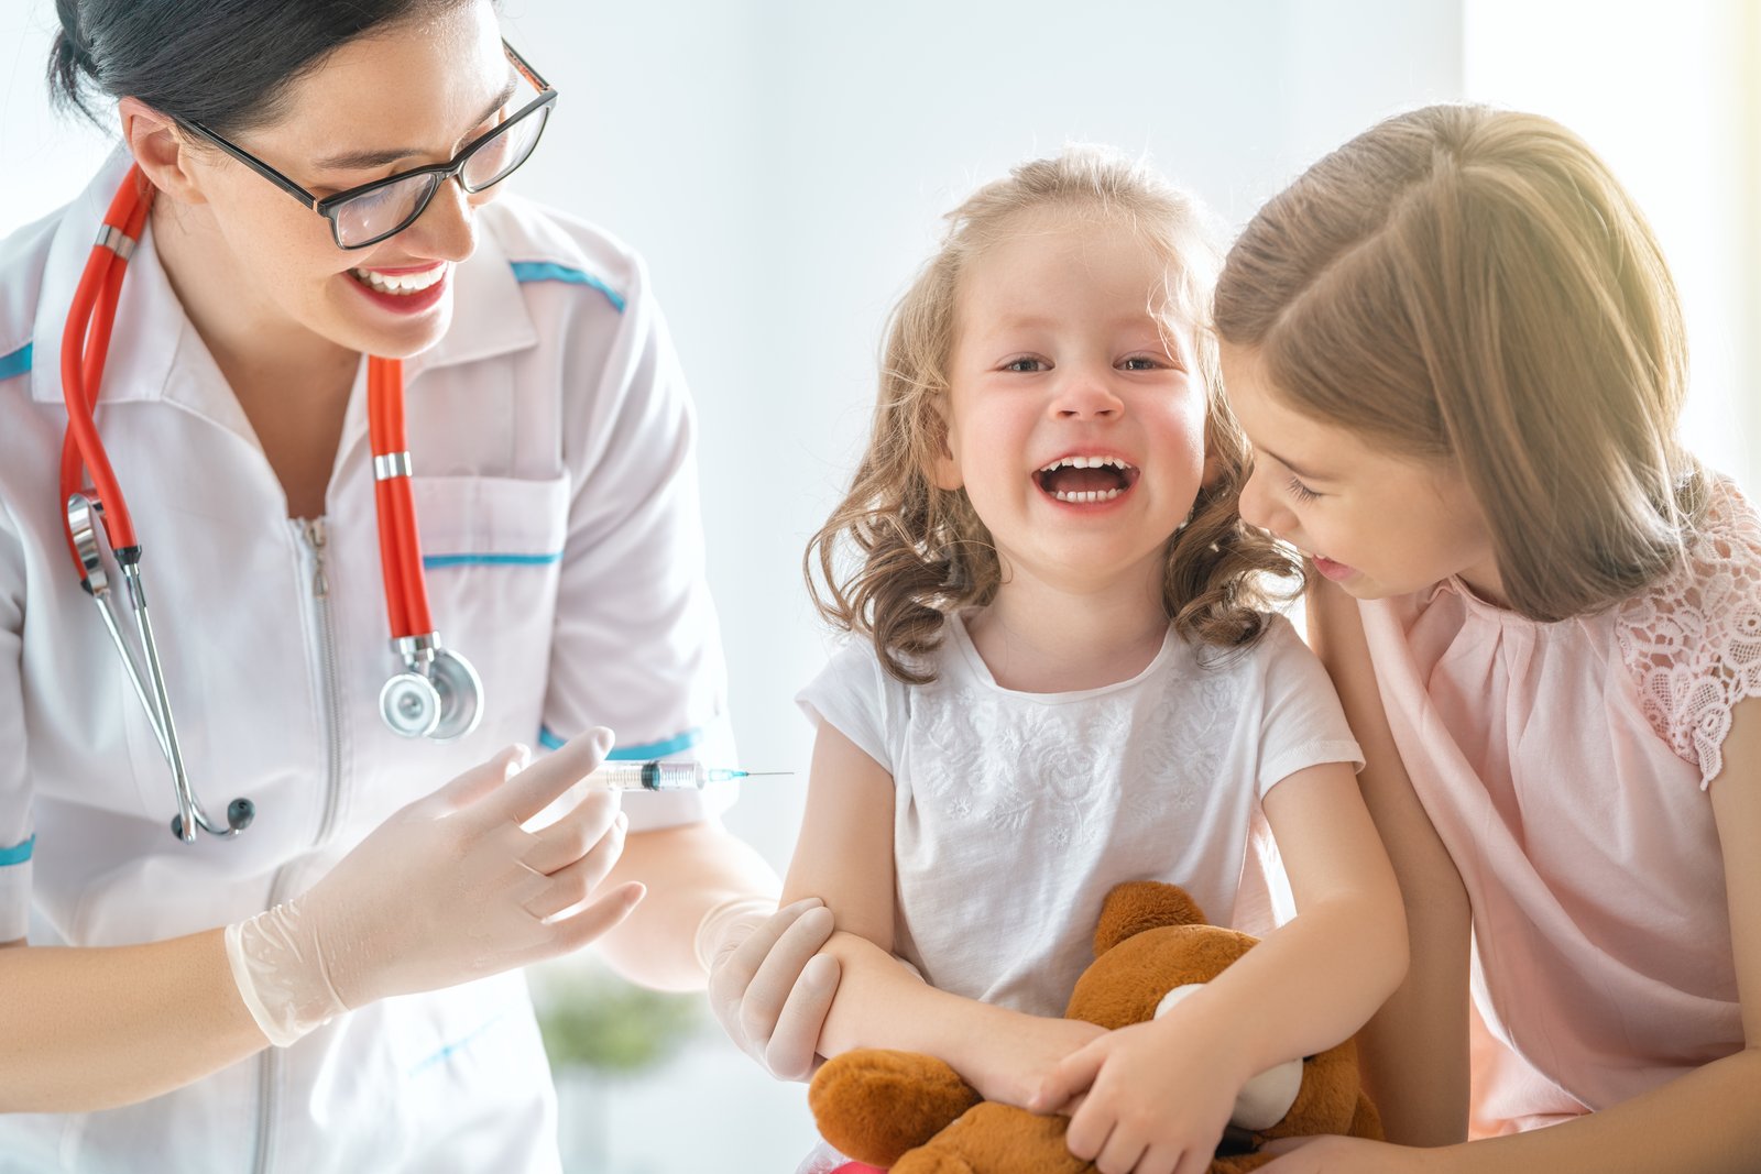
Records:
[[[1217,329],[1412,929],[1363,1049],[1412,1148],[1273,1169],[1761,1169],[1761,519],[1676,437],[1632,199],[1546,118],[1402,114],[1261,209]]]

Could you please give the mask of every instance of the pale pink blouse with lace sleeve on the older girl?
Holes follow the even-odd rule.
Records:
[[[1476,1135],[1742,1049],[1706,787],[1731,708],[1761,695],[1754,507],[1719,482],[1682,565],[1597,616],[1536,623],[1458,581],[1359,614],[1472,903]]]

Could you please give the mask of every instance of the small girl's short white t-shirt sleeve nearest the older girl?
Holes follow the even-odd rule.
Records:
[[[1363,769],[1363,752],[1321,660],[1284,616],[1261,637],[1264,708],[1259,723],[1259,797],[1296,771],[1323,762]]]

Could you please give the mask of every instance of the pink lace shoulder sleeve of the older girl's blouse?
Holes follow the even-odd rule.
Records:
[[[1645,718],[1705,787],[1731,709],[1761,697],[1761,517],[1735,486],[1713,489],[1682,565],[1622,605],[1617,632]]]

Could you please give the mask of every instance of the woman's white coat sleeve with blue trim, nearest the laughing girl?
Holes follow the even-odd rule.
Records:
[[[564,285],[541,294],[588,297],[583,313],[616,313],[616,329],[609,347],[576,343],[572,364],[564,341],[572,495],[539,739],[555,748],[606,725],[618,737],[613,759],[733,767],[727,674],[704,579],[696,414],[646,271],[634,257],[627,266],[613,297]],[[592,333],[604,338],[602,327]],[[734,796],[734,783],[710,783],[630,794],[623,810],[632,829],[667,827],[717,815]]]

